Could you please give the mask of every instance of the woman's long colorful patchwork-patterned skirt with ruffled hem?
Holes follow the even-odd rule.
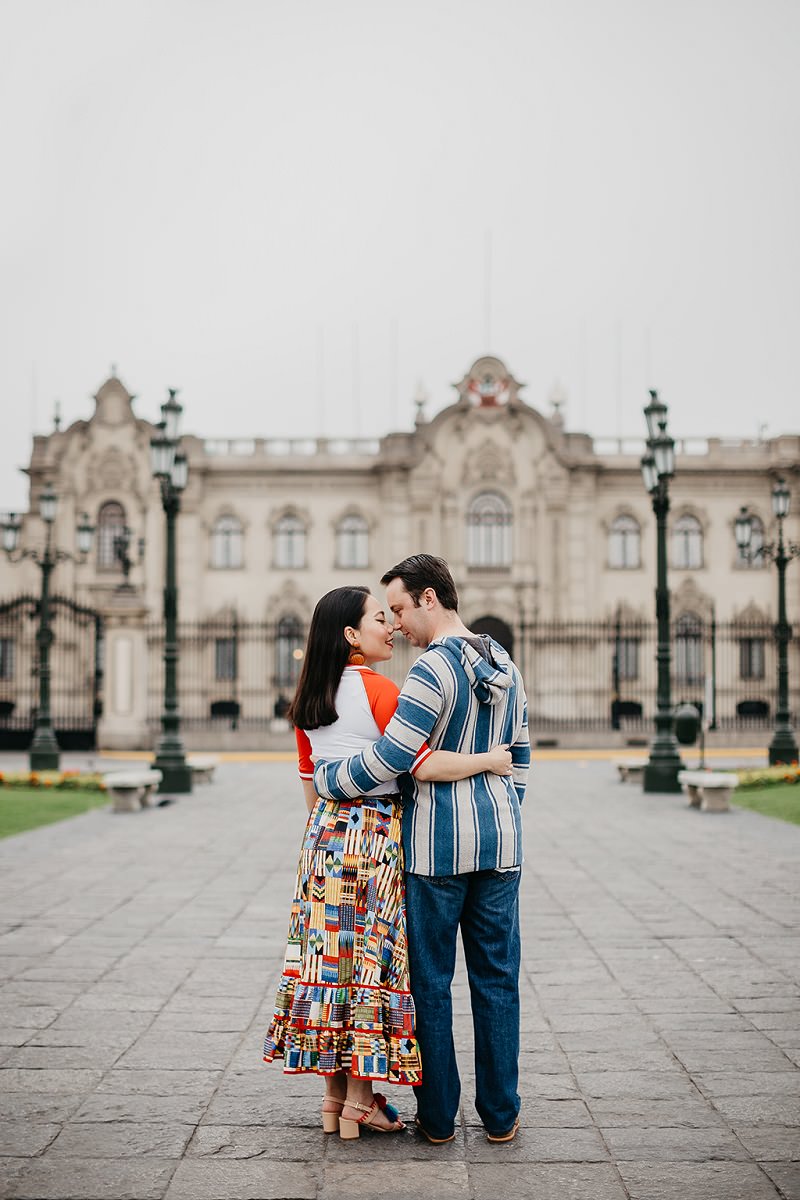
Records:
[[[308,817],[264,1061],[291,1074],[422,1080],[409,990],[397,796]]]

